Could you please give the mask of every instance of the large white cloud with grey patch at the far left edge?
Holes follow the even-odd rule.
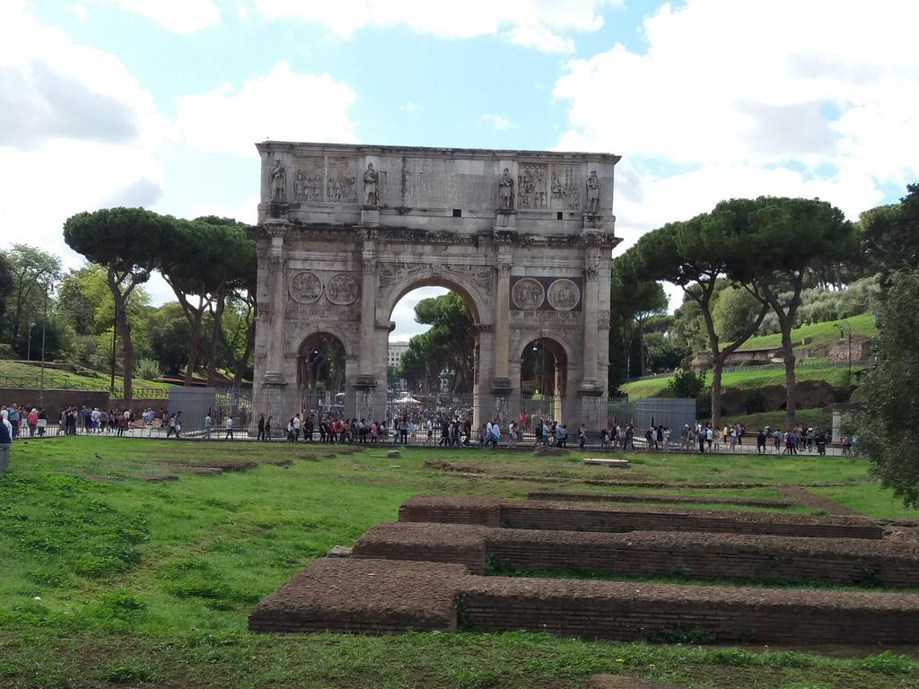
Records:
[[[81,265],[63,221],[110,199],[155,201],[172,125],[115,56],[40,25],[22,3],[0,10],[0,81],[16,86],[0,88],[4,236]]]

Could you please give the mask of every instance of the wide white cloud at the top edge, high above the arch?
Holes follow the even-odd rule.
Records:
[[[255,0],[263,17],[301,17],[347,38],[358,28],[406,26],[445,39],[497,36],[544,52],[571,52],[571,33],[603,26],[603,10],[621,0]]]

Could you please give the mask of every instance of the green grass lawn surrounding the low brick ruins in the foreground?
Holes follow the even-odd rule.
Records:
[[[246,617],[257,600],[331,546],[395,520],[410,495],[582,491],[578,480],[627,475],[584,467],[576,452],[536,458],[413,448],[387,459],[385,447],[340,449],[96,437],[15,445],[11,468],[0,476],[0,687],[584,689],[596,672],[686,687],[919,687],[919,661],[902,654],[911,649],[741,649],[698,646],[691,638],[644,644],[527,633],[250,633]],[[495,478],[425,467],[434,458],[481,462]],[[629,458],[635,478],[839,481],[844,485],[819,490],[864,514],[919,516],[866,482],[858,459]],[[284,459],[289,467],[266,463]],[[257,466],[216,476],[187,472],[227,460]],[[142,478],[165,474],[178,479]],[[547,480],[559,477],[572,482]],[[770,487],[737,493],[778,494]]]

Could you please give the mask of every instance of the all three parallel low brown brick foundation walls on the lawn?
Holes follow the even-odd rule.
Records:
[[[500,561],[524,570],[919,585],[919,545],[885,538],[866,517],[415,496],[399,518],[365,533],[351,559],[318,560],[295,575],[255,606],[250,629],[641,639],[689,627],[729,642],[919,643],[913,593],[482,575]]]

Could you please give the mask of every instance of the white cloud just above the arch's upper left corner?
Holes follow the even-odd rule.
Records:
[[[278,62],[236,88],[176,98],[176,122],[194,151],[253,155],[255,141],[357,141],[348,107],[355,94],[328,74]]]

